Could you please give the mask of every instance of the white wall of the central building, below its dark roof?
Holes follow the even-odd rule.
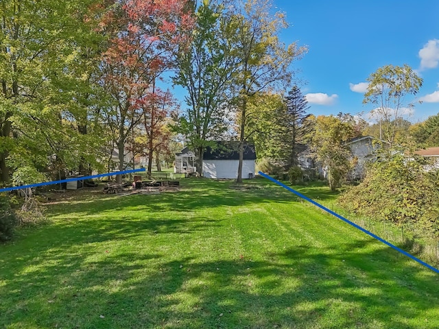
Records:
[[[203,175],[205,178],[236,179],[238,163],[238,160],[203,160]],[[242,178],[249,178],[249,173],[254,175],[254,160],[244,160],[242,164]]]

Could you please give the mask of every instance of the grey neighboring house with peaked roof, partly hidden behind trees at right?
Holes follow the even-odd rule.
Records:
[[[367,162],[375,157],[375,152],[380,147],[380,143],[377,142],[380,142],[381,144],[387,143],[372,136],[353,138],[347,143],[351,148],[353,158],[356,159],[356,164],[352,173],[353,179],[364,178],[364,169],[366,169]]]

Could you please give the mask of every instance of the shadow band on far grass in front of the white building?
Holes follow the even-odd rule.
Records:
[[[81,216],[121,210],[127,207],[141,207],[151,211],[191,211],[200,208],[215,208],[219,206],[242,206],[267,202],[285,203],[297,202],[296,195],[263,178],[244,182],[243,186],[250,189],[235,189],[234,180],[207,180],[190,179],[182,181],[182,190],[175,193],[161,193],[160,195],[126,195],[102,196],[101,198],[71,199],[63,204],[48,205],[51,215],[65,214],[65,206],[74,215]],[[300,193],[316,200],[334,199],[336,194],[329,188],[320,186],[294,186]]]

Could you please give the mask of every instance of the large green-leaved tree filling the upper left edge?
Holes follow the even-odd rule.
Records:
[[[53,155],[71,167],[94,148],[73,126],[86,111],[78,94],[92,89],[82,80],[99,44],[96,3],[0,2],[0,181],[24,164],[47,170]]]

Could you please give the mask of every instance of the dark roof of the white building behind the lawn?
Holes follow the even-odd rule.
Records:
[[[215,147],[206,147],[204,160],[239,160],[239,142],[217,142]],[[256,150],[253,144],[244,144],[244,160],[256,160]]]

